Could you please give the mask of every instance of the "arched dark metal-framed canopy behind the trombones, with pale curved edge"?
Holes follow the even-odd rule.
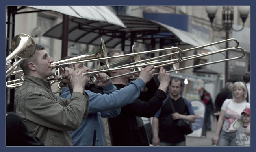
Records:
[[[154,20],[127,15],[117,16],[126,28],[104,26],[104,24],[92,26],[93,22],[83,22],[83,19],[78,18],[70,19],[69,41],[98,46],[100,44],[100,38],[103,38],[107,48],[115,48],[121,45],[121,49],[127,51],[125,50],[125,46],[130,46],[129,52],[132,52],[134,42],[147,44],[153,49],[157,43],[159,43],[160,49],[164,46],[201,46],[200,44],[205,45],[210,43],[191,33],[175,29]],[[62,33],[58,32],[60,31],[61,24],[46,31],[43,36],[61,39]],[[186,40],[186,37],[188,40]],[[217,49],[219,49],[217,46],[208,48],[210,51]]]

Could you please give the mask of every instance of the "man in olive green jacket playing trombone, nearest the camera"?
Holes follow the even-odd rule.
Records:
[[[43,46],[36,44],[36,48],[35,54],[20,65],[25,76],[18,92],[17,114],[45,145],[72,145],[69,131],[76,130],[88,115],[89,98],[84,88],[89,78],[81,75],[83,70],[60,69],[68,77],[63,82],[72,86],[72,97],[57,97],[47,81],[47,77],[54,75],[50,68],[53,59]]]

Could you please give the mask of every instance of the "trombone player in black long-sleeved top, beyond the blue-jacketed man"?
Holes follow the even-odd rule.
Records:
[[[122,55],[122,51],[110,51],[108,57]],[[114,62],[119,59],[113,59],[110,62]],[[148,68],[151,73],[154,73],[154,66]],[[146,67],[147,68],[147,67]],[[110,77],[129,73],[130,70],[118,70],[111,71]],[[127,86],[129,78],[132,75],[126,75],[112,79],[113,84],[117,87],[117,90]],[[130,145],[130,146],[148,146],[148,136],[143,125],[141,117],[153,117],[154,114],[162,105],[162,101],[166,98],[165,92],[167,90],[170,73],[166,73],[164,68],[160,69],[158,76],[160,86],[156,85],[156,82],[151,79],[146,87],[147,91],[141,92],[141,95],[133,103],[130,103],[121,108],[121,113],[115,118],[109,118],[110,128],[112,133],[113,145]]]

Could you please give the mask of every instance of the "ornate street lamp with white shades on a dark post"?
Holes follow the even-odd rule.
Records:
[[[240,17],[243,22],[243,27],[237,30],[232,27],[234,23],[234,11],[233,11],[234,7],[223,6],[221,28],[213,26],[213,19],[215,18],[215,13],[217,12],[218,6],[206,6],[205,9],[206,9],[206,12],[208,13],[208,17],[210,19],[212,29],[214,31],[224,30],[226,32],[226,39],[229,38],[229,32],[231,30],[241,31],[243,29],[243,27],[245,26],[245,20],[248,17],[248,14],[250,12],[250,6],[238,6],[238,11],[240,13]],[[229,48],[228,42],[226,42],[226,48]],[[228,59],[228,51],[226,51],[226,59]],[[225,82],[228,82],[228,62],[226,62],[225,64]]]

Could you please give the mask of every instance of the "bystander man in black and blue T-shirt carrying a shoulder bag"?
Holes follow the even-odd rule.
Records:
[[[163,101],[160,110],[153,117],[152,129],[154,146],[186,146],[185,136],[176,128],[178,119],[194,123],[196,116],[191,103],[181,97],[182,81],[174,78],[169,84],[170,95]],[[171,108],[171,102],[175,112]],[[159,130],[158,130],[159,128]]]

